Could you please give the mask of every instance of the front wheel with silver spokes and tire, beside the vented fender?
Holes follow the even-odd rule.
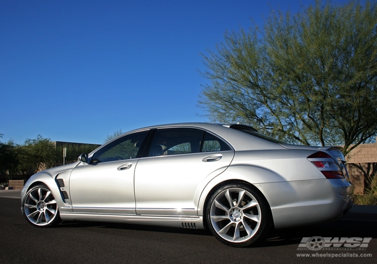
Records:
[[[28,191],[22,209],[28,222],[37,227],[48,227],[61,221],[56,200],[45,185],[35,186]]]

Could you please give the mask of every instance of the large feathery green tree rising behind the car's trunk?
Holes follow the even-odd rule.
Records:
[[[226,33],[204,55],[211,83],[199,105],[212,121],[292,143],[344,145],[347,154],[377,132],[376,25],[368,1],[271,11],[262,30]]]

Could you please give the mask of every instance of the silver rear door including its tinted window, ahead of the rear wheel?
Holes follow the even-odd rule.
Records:
[[[136,213],[197,215],[201,190],[234,156],[218,137],[194,128],[158,129],[135,170]]]

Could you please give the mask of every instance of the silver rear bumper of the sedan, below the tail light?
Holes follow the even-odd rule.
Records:
[[[352,208],[352,185],[343,179],[256,184],[276,229],[334,221]]]

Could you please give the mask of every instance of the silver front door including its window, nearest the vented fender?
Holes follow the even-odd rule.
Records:
[[[70,175],[72,209],[78,213],[135,214],[134,172],[148,131],[125,135],[89,157]]]

